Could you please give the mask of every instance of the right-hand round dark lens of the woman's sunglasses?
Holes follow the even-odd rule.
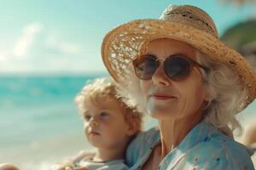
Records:
[[[172,57],[166,59],[164,70],[166,75],[172,80],[183,80],[188,77],[191,70],[191,65],[188,59],[182,57]]]

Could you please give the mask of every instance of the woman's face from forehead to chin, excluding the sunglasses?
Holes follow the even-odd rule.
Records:
[[[201,114],[201,105],[206,98],[201,72],[194,66],[189,77],[172,81],[163,70],[163,60],[173,54],[183,54],[195,59],[196,50],[186,43],[171,39],[149,42],[147,54],[160,59],[160,66],[150,80],[140,80],[146,108],[158,120],[183,119]]]

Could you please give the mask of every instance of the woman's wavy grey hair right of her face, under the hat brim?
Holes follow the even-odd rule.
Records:
[[[241,134],[241,125],[236,120],[236,113],[245,106],[247,89],[242,88],[239,76],[228,66],[212,61],[201,53],[197,54],[196,60],[209,68],[209,71],[201,70],[207,92],[210,94],[205,109],[205,121],[229,136],[232,136],[236,129]]]

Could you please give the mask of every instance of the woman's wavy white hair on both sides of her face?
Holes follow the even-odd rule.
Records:
[[[217,127],[226,135],[232,137],[237,129],[241,134],[241,125],[236,119],[236,113],[241,111],[247,99],[247,89],[242,88],[239,76],[224,64],[208,59],[197,53],[197,62],[209,70],[201,69],[209,96],[209,102],[204,112],[204,120]],[[139,111],[146,113],[145,99],[139,86],[139,79],[130,66],[131,75],[120,82],[119,95],[126,105],[136,106]]]

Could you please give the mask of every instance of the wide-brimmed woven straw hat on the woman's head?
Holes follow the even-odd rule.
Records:
[[[188,43],[210,59],[227,65],[248,89],[246,105],[255,99],[256,73],[252,66],[218,39],[217,28],[206,12],[190,5],[170,5],[159,20],[133,20],[109,31],[102,42],[102,59],[113,79],[120,82],[129,77],[131,61],[145,54],[148,42],[157,38]]]

